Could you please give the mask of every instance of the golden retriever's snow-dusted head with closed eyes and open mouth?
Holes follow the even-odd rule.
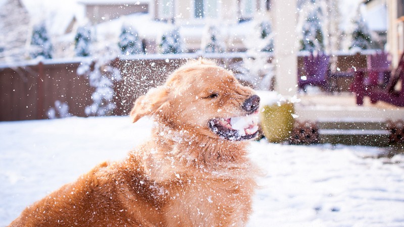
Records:
[[[163,86],[140,96],[130,112],[173,129],[213,138],[247,140],[258,134],[260,97],[233,74],[207,60],[190,61],[169,76]]]

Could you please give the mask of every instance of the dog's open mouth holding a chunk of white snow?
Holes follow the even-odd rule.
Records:
[[[233,117],[215,118],[209,121],[212,132],[228,140],[248,140],[258,134],[258,114]]]

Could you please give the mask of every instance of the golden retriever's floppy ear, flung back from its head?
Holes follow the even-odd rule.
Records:
[[[168,92],[169,90],[166,86],[158,86],[150,89],[147,94],[138,97],[130,111],[133,123],[144,116],[151,116],[162,110],[167,102]]]

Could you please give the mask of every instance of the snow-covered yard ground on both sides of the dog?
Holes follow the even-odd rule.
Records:
[[[128,117],[0,123],[0,226],[103,160],[122,159],[151,122]],[[251,142],[262,168],[248,226],[404,226],[404,168],[380,148]]]

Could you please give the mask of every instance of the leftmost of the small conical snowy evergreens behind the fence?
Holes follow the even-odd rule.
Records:
[[[46,31],[45,23],[35,25],[31,38],[31,58],[43,56],[45,59],[52,59],[52,43]]]

